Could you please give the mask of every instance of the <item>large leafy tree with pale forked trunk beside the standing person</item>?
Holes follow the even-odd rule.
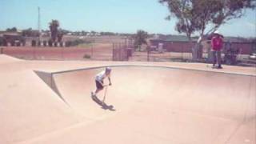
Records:
[[[159,0],[166,4],[171,17],[177,18],[175,30],[185,33],[191,43],[191,34],[199,32],[197,44],[192,48],[193,59],[198,58],[202,37],[218,30],[233,18],[241,18],[245,9],[254,9],[255,0]]]

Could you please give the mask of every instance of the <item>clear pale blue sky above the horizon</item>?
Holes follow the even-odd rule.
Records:
[[[169,11],[158,0],[0,0],[0,30],[38,29],[38,6],[43,30],[57,19],[65,30],[178,34],[175,18],[165,19]],[[246,10],[244,17],[230,20],[219,31],[226,36],[256,37],[255,10]]]

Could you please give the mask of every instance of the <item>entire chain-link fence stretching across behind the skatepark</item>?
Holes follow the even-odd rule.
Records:
[[[245,44],[233,44],[237,50]],[[246,44],[249,45],[249,44]],[[138,62],[193,62],[192,50],[179,46],[180,49],[165,49],[158,46],[142,46],[136,49],[133,42],[114,42],[92,44],[90,46],[47,47],[47,46],[1,46],[0,54],[29,60],[99,60],[99,61],[138,61]],[[247,46],[248,47],[248,46]],[[226,58],[226,46],[222,51],[222,59]],[[242,49],[245,50],[245,49]],[[247,60],[249,54],[240,50],[236,55],[238,61]],[[202,58],[197,62],[211,62],[211,52],[208,42],[202,46]]]

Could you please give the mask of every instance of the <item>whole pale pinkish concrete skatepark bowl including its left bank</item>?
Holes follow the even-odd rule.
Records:
[[[23,76],[15,82],[26,85],[6,81],[17,95],[6,92],[0,97],[0,143],[256,142],[255,75],[110,66],[113,85],[99,92],[98,98],[106,92],[105,102],[114,111],[102,109],[90,98],[95,74],[104,66],[22,70],[18,75]]]

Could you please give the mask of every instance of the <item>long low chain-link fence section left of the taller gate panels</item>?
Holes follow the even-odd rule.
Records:
[[[1,47],[1,54],[27,60],[112,60],[111,47]]]

